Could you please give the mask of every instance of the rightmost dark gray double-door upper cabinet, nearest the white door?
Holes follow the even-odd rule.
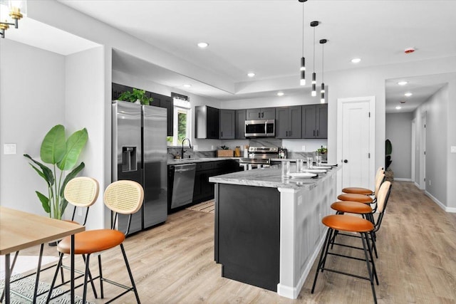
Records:
[[[302,138],[328,138],[328,105],[302,106]]]

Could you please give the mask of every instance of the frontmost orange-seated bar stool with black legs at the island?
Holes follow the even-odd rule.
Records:
[[[333,215],[325,216],[325,217],[323,217],[323,219],[321,219],[321,222],[325,226],[328,227],[328,232],[326,233],[326,239],[325,239],[325,242],[323,243],[323,248],[321,250],[321,255],[320,255],[320,259],[318,261],[318,267],[316,269],[314,285],[312,285],[311,293],[314,293],[316,280],[318,278],[318,272],[331,271],[333,273],[340,273],[340,274],[343,274],[346,276],[353,276],[355,278],[361,278],[361,279],[370,281],[373,300],[374,300],[374,303],[376,304],[377,296],[375,295],[374,278],[375,278],[375,282],[377,283],[377,285],[378,285],[378,278],[377,278],[377,272],[375,271],[375,263],[373,261],[372,251],[371,251],[370,246],[368,245],[368,242],[369,242],[368,234],[372,234],[372,231],[374,229],[372,222],[368,221],[367,219],[361,219],[360,217],[350,216],[350,215],[346,215],[346,214],[333,214]],[[333,237],[333,234],[336,231],[346,231],[346,232],[352,232],[352,233],[355,232],[355,233],[360,234],[361,241],[363,243],[365,259],[356,258],[353,256],[345,256],[345,255],[342,255],[339,253],[329,252],[329,245],[331,244],[331,239]],[[337,269],[326,268],[325,264],[326,264],[326,258],[328,257],[328,255],[366,261],[366,266],[368,269],[368,277],[358,276],[357,274],[354,274],[354,273],[338,271]]]

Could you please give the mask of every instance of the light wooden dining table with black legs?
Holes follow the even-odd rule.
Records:
[[[5,256],[5,301],[10,303],[10,253],[71,236],[71,303],[74,303],[74,234],[79,224],[0,206],[0,255]],[[34,295],[36,296],[36,295]]]

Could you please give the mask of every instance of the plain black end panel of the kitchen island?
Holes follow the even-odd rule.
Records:
[[[217,184],[215,260],[222,276],[277,291],[280,194],[274,188]]]

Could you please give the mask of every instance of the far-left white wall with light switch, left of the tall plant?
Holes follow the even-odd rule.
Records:
[[[65,57],[1,39],[0,63],[0,204],[47,215],[35,194],[46,182],[23,154],[40,160],[44,135],[65,123]],[[16,154],[5,155],[5,143]]]

